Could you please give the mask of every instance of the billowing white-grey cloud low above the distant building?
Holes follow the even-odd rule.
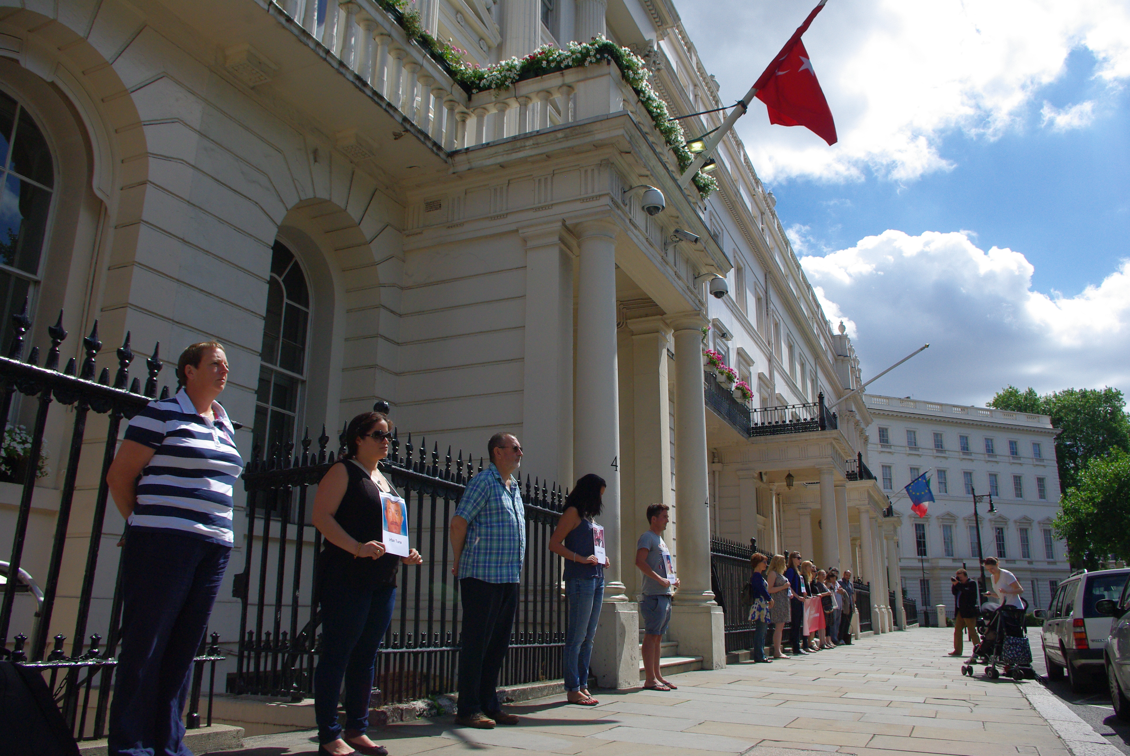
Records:
[[[1130,260],[1072,297],[1034,290],[1024,254],[966,233],[887,231],[801,264],[833,324],[853,315],[864,377],[930,342],[879,393],[984,403],[1009,383],[1130,389]]]

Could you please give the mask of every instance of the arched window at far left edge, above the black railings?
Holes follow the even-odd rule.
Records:
[[[0,92],[0,331],[8,354],[11,315],[35,299],[55,164],[32,114]]]

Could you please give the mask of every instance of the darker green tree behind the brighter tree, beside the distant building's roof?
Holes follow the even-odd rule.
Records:
[[[1060,490],[1076,486],[1087,462],[1114,449],[1130,451],[1130,419],[1125,398],[1118,389],[1064,389],[1040,397],[1035,389],[1009,385],[989,407],[1015,412],[1050,415],[1055,437]]]

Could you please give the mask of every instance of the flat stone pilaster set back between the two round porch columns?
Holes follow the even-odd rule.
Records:
[[[647,527],[647,506],[675,504],[671,493],[670,398],[667,374],[667,345],[671,338],[671,329],[662,318],[629,320],[628,328],[632,330],[635,460],[634,501],[625,501],[620,506],[624,542],[631,542],[631,547],[625,549],[629,554],[624,555],[621,577],[628,586],[628,596],[636,596],[643,588],[643,575],[631,565],[635,561],[636,539]]]

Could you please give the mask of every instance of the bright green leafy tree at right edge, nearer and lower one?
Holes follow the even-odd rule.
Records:
[[[1072,567],[1094,570],[1110,556],[1130,561],[1130,454],[1113,449],[1090,459],[1060,506],[1052,527]]]

